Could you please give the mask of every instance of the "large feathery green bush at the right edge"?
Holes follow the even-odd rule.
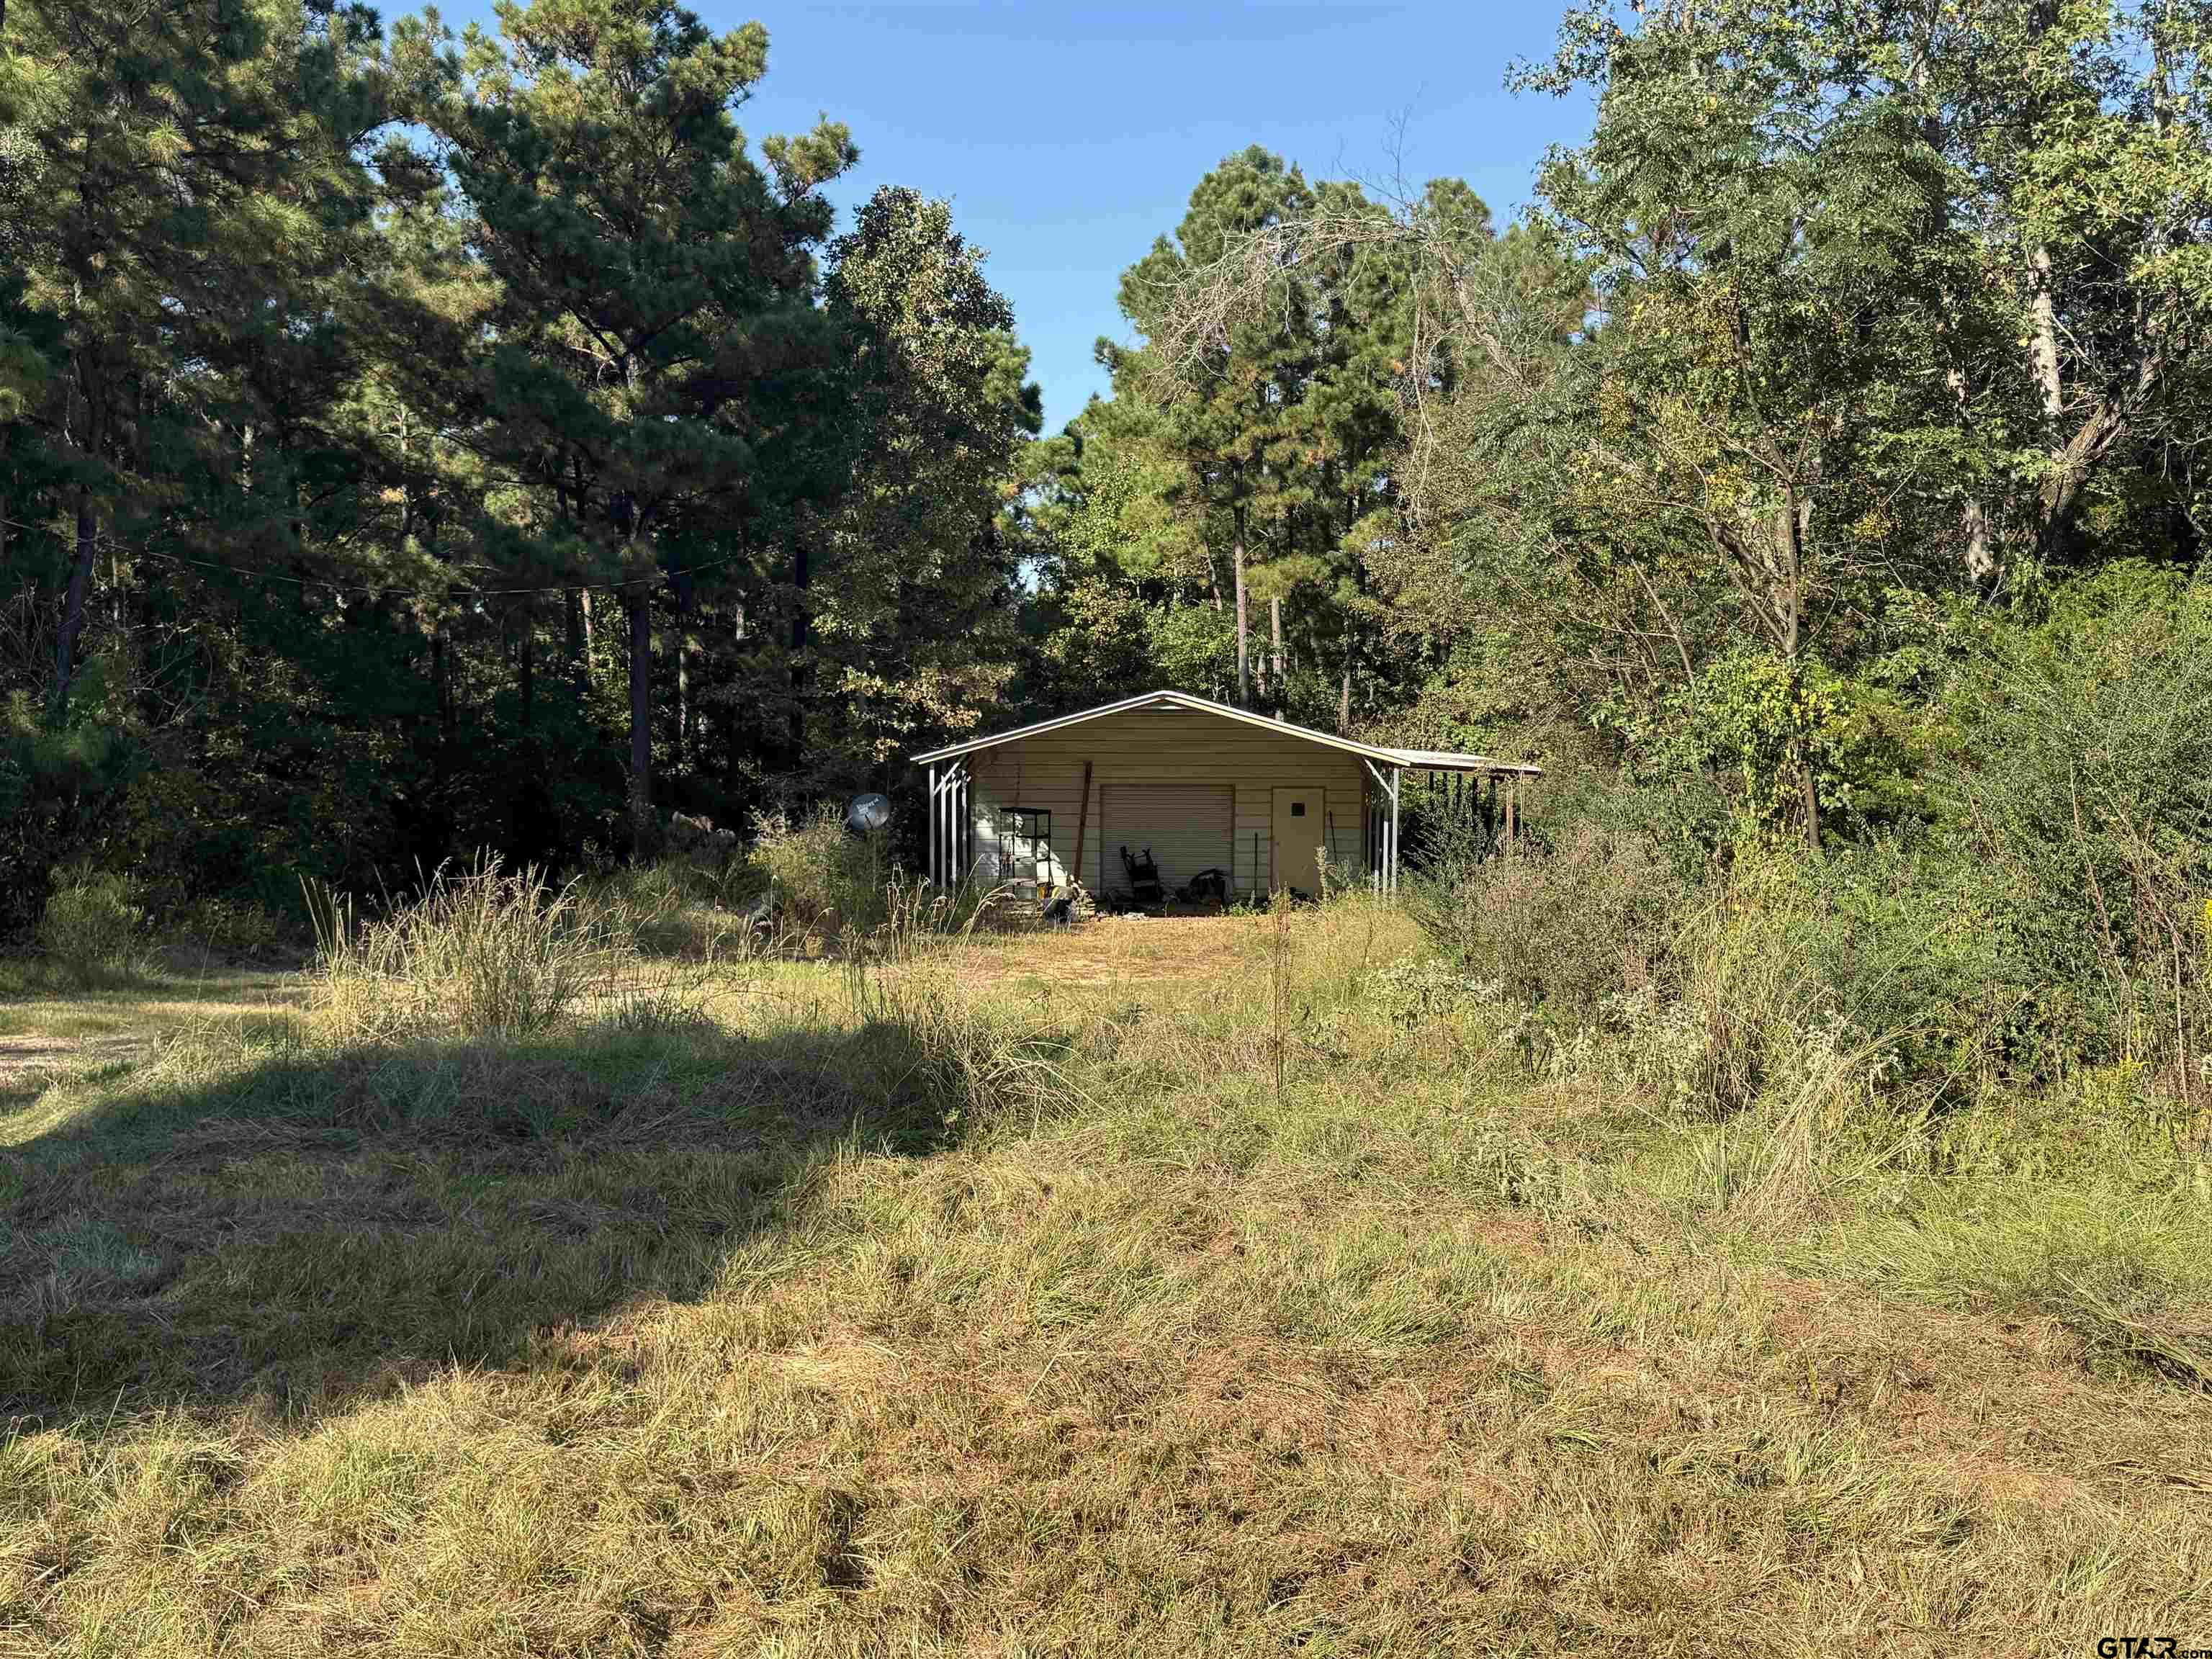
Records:
[[[2212,588],[2115,566],[1962,675],[1944,852],[1995,945],[2008,1066],[2212,1048]]]

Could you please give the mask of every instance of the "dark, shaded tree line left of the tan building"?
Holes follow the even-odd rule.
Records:
[[[759,24],[639,0],[0,18],[13,920],[650,854],[1006,677],[1037,394],[942,201],[836,234]]]

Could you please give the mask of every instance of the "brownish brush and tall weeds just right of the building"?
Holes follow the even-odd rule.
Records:
[[[1584,787],[1515,843],[1436,834],[1405,891],[1449,973],[1405,989],[1489,1000],[1524,1062],[1604,1071],[1674,1121],[1761,1108],[1796,1135],[1867,1075],[1893,1084],[1913,1022],[1958,993],[1880,891],[1896,872],[1761,834],[1670,843],[1655,805]]]

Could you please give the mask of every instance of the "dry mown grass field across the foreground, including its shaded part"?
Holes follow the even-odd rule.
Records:
[[[1102,922],[0,1082],[0,1655],[2212,1646],[2152,1133],[1847,1062],[1679,1113],[1413,951]]]

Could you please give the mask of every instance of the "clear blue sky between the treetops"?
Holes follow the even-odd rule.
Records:
[[[841,228],[883,184],[951,199],[1013,301],[1046,431],[1104,389],[1091,347],[1128,336],[1121,270],[1175,230],[1223,155],[1263,144],[1310,179],[1389,181],[1400,150],[1411,184],[1462,177],[1504,223],[1544,146],[1590,124],[1579,97],[1502,84],[1515,58],[1551,49],[1557,0],[688,4],[714,29],[768,27],[768,80],[739,115],[750,137],[818,113],[852,126],[860,166],[832,190]],[[489,20],[489,4],[447,7],[471,15]]]

